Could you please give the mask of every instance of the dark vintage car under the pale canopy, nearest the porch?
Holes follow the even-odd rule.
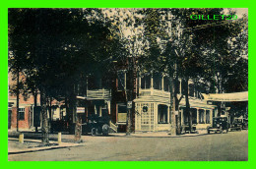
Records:
[[[228,132],[228,123],[227,123],[227,117],[214,117],[213,119],[213,126],[210,126],[207,128],[207,133],[210,134],[211,132],[221,134],[225,131],[225,133]]]

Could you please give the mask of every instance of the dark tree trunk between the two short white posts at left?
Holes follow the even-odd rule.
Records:
[[[46,94],[45,89],[41,87],[40,90],[40,105],[41,105],[41,115],[42,115],[42,127],[41,127],[41,141],[43,145],[49,144],[49,129],[48,129],[48,117],[47,117],[47,107],[46,107]]]

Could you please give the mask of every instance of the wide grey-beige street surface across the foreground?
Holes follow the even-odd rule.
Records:
[[[248,131],[183,137],[91,137],[83,146],[9,155],[9,161],[246,161]]]

